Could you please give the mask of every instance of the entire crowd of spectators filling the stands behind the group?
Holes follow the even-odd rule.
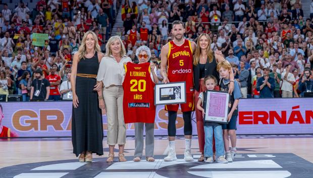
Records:
[[[51,80],[50,87],[59,88],[57,95],[70,92],[66,84],[61,88],[64,91],[60,86],[67,81],[72,56],[88,30],[98,35],[103,52],[110,35],[121,36],[127,55],[135,63],[138,62],[136,49],[147,45],[151,62],[159,67],[161,81],[161,48],[173,39],[170,32],[175,20],[185,23],[185,37],[189,40],[196,41],[201,33],[210,35],[211,48],[222,50],[233,65],[243,97],[301,97],[305,91],[313,90],[313,23],[311,19],[303,19],[299,0],[120,3],[119,0],[40,0],[34,9],[23,2],[15,9],[4,4],[0,10],[0,94],[22,94],[23,100],[29,100],[38,68],[43,78]],[[312,7],[313,3],[311,17]],[[118,11],[122,13],[123,27],[111,32]],[[44,46],[32,44],[33,33],[48,34]],[[54,75],[59,77],[48,77],[53,66],[57,66]],[[264,72],[267,70],[269,74]],[[269,81],[275,82],[275,89],[270,83],[267,85]]]

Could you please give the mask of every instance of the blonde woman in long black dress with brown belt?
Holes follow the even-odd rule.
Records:
[[[73,92],[72,144],[73,153],[80,162],[91,162],[92,153],[103,155],[103,128],[101,109],[105,102],[101,83],[96,82],[100,52],[94,32],[85,33],[81,46],[73,57],[71,86]]]

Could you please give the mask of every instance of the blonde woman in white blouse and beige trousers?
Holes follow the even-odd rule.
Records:
[[[119,161],[125,162],[124,146],[126,143],[126,127],[123,114],[122,87],[124,81],[124,63],[131,62],[126,55],[125,47],[119,36],[112,36],[106,45],[106,54],[102,58],[98,70],[97,81],[103,83],[103,98],[108,120],[109,157],[113,162],[114,147],[119,145]]]

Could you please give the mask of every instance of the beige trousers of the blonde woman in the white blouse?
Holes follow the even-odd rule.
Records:
[[[126,143],[126,126],[123,114],[122,86],[110,86],[103,88],[103,98],[106,103],[108,120],[108,144],[124,145]]]

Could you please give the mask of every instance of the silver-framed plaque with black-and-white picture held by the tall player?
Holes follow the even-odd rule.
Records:
[[[154,105],[186,103],[186,82],[170,82],[154,86]]]

